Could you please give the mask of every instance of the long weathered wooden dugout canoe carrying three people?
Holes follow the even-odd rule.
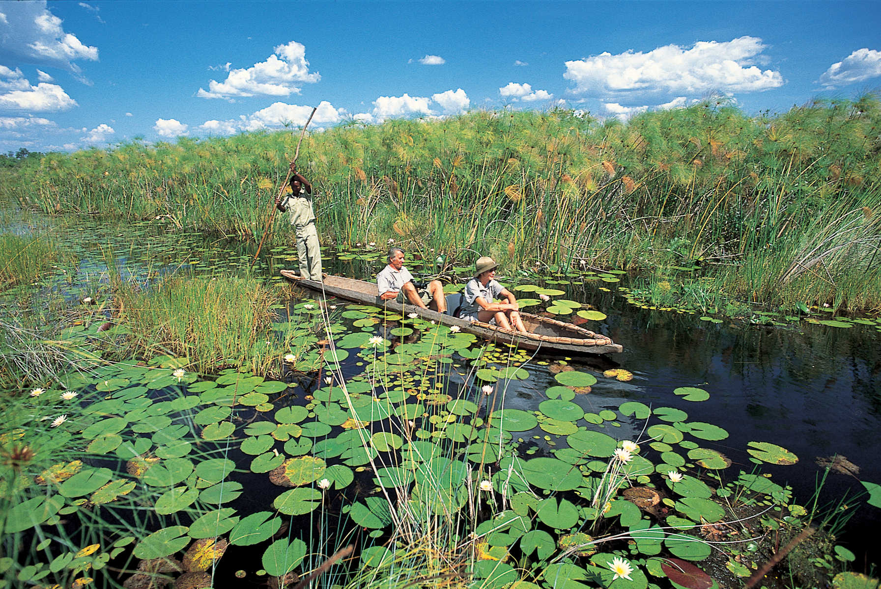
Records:
[[[417,313],[427,320],[435,320],[448,326],[457,325],[463,332],[477,335],[491,342],[513,343],[522,350],[538,350],[547,354],[566,355],[598,355],[623,350],[620,344],[612,342],[605,335],[596,334],[572,323],[549,317],[539,317],[532,313],[520,312],[523,324],[530,332],[522,334],[497,328],[488,323],[459,319],[431,309],[423,309],[409,304],[402,305],[394,300],[380,300],[376,296],[376,283],[367,283],[363,280],[343,278],[342,276],[325,276],[324,282],[321,283],[301,278],[292,270],[282,270],[281,275],[292,283],[320,292],[325,296],[345,298],[363,305],[380,306],[396,313]]]

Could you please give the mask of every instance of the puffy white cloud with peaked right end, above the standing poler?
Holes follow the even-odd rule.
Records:
[[[309,72],[306,48],[295,40],[279,45],[265,62],[247,69],[229,70],[223,82],[211,80],[208,90],[199,88],[199,98],[234,99],[242,96],[289,96],[299,94],[300,85],[321,79],[317,72]]]

